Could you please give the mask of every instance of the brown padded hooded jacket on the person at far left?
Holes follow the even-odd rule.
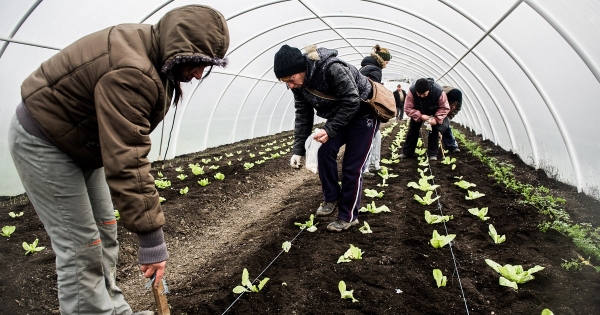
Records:
[[[226,21],[191,5],[156,25],[121,24],[87,35],[44,62],[21,97],[46,136],[83,168],[104,167],[124,226],[146,233],[165,223],[150,175],[150,132],[173,95],[168,75],[186,60],[226,64]]]

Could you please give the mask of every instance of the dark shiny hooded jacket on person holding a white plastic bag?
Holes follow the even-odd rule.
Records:
[[[369,98],[371,83],[356,67],[337,57],[337,51],[310,46],[304,54],[307,63],[306,77],[301,88],[292,89],[296,119],[293,153],[304,155],[304,142],[314,125],[314,110],[327,119],[323,129],[330,138],[353,119],[374,115],[361,100]],[[318,97],[306,88],[317,90],[336,99]]]

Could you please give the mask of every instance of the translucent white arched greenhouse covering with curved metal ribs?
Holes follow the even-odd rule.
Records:
[[[384,81],[431,77],[460,88],[455,122],[600,199],[598,0],[2,0],[0,195],[23,192],[7,144],[21,82],[88,33],[154,24],[187,4],[226,17],[230,64],[184,86],[184,103],[152,134],[152,160],[161,134],[162,154],[171,134],[173,158],[293,129],[292,93],[272,70],[282,44],[337,49],[357,66],[379,44],[393,56]]]

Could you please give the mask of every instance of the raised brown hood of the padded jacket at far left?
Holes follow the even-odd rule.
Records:
[[[185,23],[182,23],[185,21]],[[161,71],[168,74],[178,63],[228,63],[229,29],[223,15],[211,7],[189,5],[174,9],[154,26],[162,57]]]

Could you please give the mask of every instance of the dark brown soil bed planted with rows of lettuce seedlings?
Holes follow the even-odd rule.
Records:
[[[488,155],[513,164],[519,180],[544,185],[556,196],[566,198],[564,208],[575,222],[600,225],[597,201],[548,179],[543,172],[526,166],[489,141],[482,142],[468,130],[456,128],[490,149]],[[383,139],[383,158],[389,157],[397,132],[395,127]],[[365,179],[363,188],[385,191],[382,199],[375,199],[377,206],[386,205],[391,210],[361,213],[361,225],[367,221],[372,234],[362,234],[356,226],[344,233],[329,233],[326,225],[334,219],[332,216],[316,218],[316,232],[302,231],[298,235],[300,229],[294,222],[304,223],[321,202],[318,177],[306,169],[291,169],[289,152],[249,170],[237,160],[259,159],[258,152],[265,152],[261,145],[273,141],[283,146],[280,150],[287,149],[290,136],[286,132],[211,148],[168,161],[161,170],[172,183],[160,191],[166,198],[164,231],[171,256],[166,280],[172,314],[222,314],[227,310],[226,314],[530,315],[541,314],[544,308],[555,314],[600,314],[600,274],[588,266],[581,271],[561,267],[563,259],[576,258],[580,251],[570,239],[553,230],[540,232],[537,225],[547,217],[519,203],[521,195],[490,180],[489,168],[464,147],[463,152],[453,155],[457,158],[455,170],[440,161],[431,163],[435,184],[441,185],[437,190],[441,210],[454,216],[446,224],[448,233],[456,234],[451,247],[434,249],[429,244],[434,229],[440,234],[446,230],[443,224],[429,225],[424,220],[425,210],[440,213],[437,204],[420,205],[413,195],[424,193],[407,187],[408,182],[419,179],[416,159],[391,165],[390,173],[399,176],[388,180],[388,187],[377,187],[379,176]],[[238,155],[238,151],[242,153]],[[234,156],[226,157],[225,153]],[[256,157],[249,158],[249,153]],[[207,175],[195,176],[188,168],[189,163],[203,165],[203,158],[215,156],[223,158],[207,166],[219,165],[219,169],[207,171]],[[232,165],[227,166],[227,161]],[[176,178],[178,166],[188,175],[185,180]],[[158,170],[155,165],[155,177]],[[223,181],[213,178],[217,172],[225,175]],[[454,176],[475,183],[472,190],[485,196],[465,200],[466,190],[453,184],[457,181]],[[201,178],[209,178],[211,183],[200,187],[197,181]],[[179,189],[186,186],[189,192],[181,195]],[[372,200],[363,195],[362,205]],[[42,224],[26,201],[1,201],[0,226],[16,226],[10,238],[0,238],[2,313],[58,314],[55,256]],[[488,207],[490,219],[482,221],[468,212],[475,207]],[[10,211],[23,211],[24,216],[12,219]],[[488,236],[489,224],[506,235],[506,242],[493,244]],[[25,256],[21,244],[35,238],[39,238],[39,246],[47,248]],[[121,226],[119,239],[118,284],[134,311],[154,309],[152,294],[144,289],[146,281],[136,264],[136,237]],[[291,250],[275,259],[282,243],[292,240]],[[363,259],[337,264],[350,244],[364,251]],[[540,265],[545,269],[514,291],[498,284],[499,275],[485,259],[501,265],[523,265],[525,269]],[[598,261],[592,263],[600,265]],[[247,268],[254,280],[267,267],[260,275],[260,279],[270,278],[264,289],[245,293],[234,303],[238,294],[232,289],[240,284],[243,269]],[[436,286],[433,269],[440,269],[448,277],[446,287]],[[340,280],[346,282],[348,290],[354,290],[358,302],[340,298]]]

